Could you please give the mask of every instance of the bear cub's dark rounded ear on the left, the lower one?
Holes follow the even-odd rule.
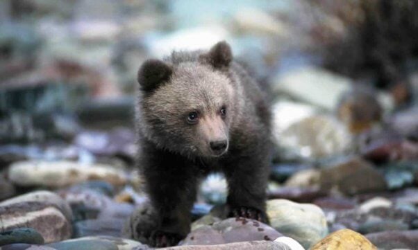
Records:
[[[162,82],[167,82],[172,76],[172,67],[161,60],[149,59],[145,61],[138,71],[138,82],[142,90],[156,89]]]

